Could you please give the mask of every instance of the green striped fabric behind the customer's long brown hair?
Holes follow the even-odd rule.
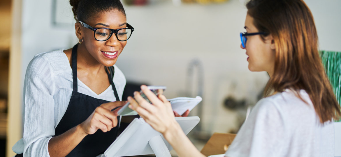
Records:
[[[320,51],[322,63],[325,66],[336,99],[341,101],[341,52]],[[336,121],[336,120],[335,120]],[[341,120],[339,120],[341,121]]]

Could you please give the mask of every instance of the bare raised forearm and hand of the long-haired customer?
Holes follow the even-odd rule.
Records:
[[[159,94],[157,97],[147,86],[142,85],[143,93],[150,100],[148,103],[141,97],[139,92],[134,92],[134,98],[128,97],[129,108],[138,112],[150,126],[160,132],[163,137],[172,145],[179,157],[204,157],[183,133],[180,125],[174,118],[174,112],[166,97]],[[186,111],[188,115],[189,111]]]

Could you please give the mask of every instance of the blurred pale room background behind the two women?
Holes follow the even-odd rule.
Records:
[[[341,51],[341,1],[305,2],[315,19],[320,50]],[[127,22],[135,28],[116,63],[127,78],[127,91],[140,84],[164,85],[168,99],[203,97],[190,113],[201,118],[189,135],[199,150],[214,132],[238,131],[269,78],[266,72],[248,70],[240,48],[245,4],[123,0]],[[23,134],[28,63],[37,53],[68,49],[78,40],[68,0],[1,0],[0,20],[0,156],[10,157]]]

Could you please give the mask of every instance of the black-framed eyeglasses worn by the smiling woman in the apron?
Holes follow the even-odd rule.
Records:
[[[116,38],[119,41],[125,41],[128,40],[131,36],[131,34],[134,31],[134,28],[127,23],[127,28],[121,28],[121,29],[109,29],[109,28],[97,28],[97,27],[91,27],[90,25],[79,21],[79,23],[90,30],[93,31],[94,37],[97,41],[106,41],[108,40],[113,34],[115,34]]]

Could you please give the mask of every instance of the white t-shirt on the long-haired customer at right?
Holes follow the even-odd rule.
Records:
[[[320,123],[309,95],[290,90],[260,100],[225,157],[333,157],[333,122]]]

